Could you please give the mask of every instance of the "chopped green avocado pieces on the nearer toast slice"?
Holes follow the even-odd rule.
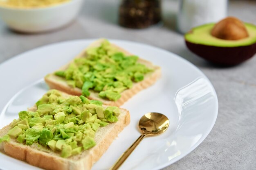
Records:
[[[104,108],[100,101],[84,96],[65,97],[57,90],[47,92],[36,105],[36,111],[20,111],[19,119],[13,120],[12,129],[0,137],[0,143],[14,138],[70,157],[95,146],[95,132],[100,126],[117,122],[120,114],[118,107]]]

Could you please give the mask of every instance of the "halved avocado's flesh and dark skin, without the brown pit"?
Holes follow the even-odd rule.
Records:
[[[185,34],[186,46],[198,56],[220,65],[239,64],[256,53],[256,26],[245,23],[248,37],[225,40],[213,37],[214,23],[193,28]]]

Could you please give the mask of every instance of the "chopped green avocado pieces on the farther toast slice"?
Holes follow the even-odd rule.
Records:
[[[74,59],[66,70],[55,75],[65,78],[70,87],[82,89],[83,96],[90,96],[92,89],[100,98],[116,101],[121,92],[152,71],[137,60],[137,56],[126,56],[104,40],[101,46],[86,50],[86,57]]]

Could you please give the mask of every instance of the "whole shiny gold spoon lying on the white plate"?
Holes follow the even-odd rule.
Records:
[[[161,113],[146,113],[139,120],[139,129],[142,134],[140,137],[119,157],[110,170],[117,170],[124,161],[129,157],[132,151],[139,145],[141,140],[150,135],[159,135],[163,133],[169,126],[169,120]]]

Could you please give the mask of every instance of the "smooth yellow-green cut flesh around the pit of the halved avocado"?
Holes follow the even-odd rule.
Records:
[[[213,37],[211,35],[211,30],[213,29],[214,25],[215,24],[212,23],[193,28],[191,31],[185,34],[186,41],[194,44],[218,47],[248,46],[256,43],[256,26],[253,24],[245,23],[249,37],[239,40],[225,40]]]

